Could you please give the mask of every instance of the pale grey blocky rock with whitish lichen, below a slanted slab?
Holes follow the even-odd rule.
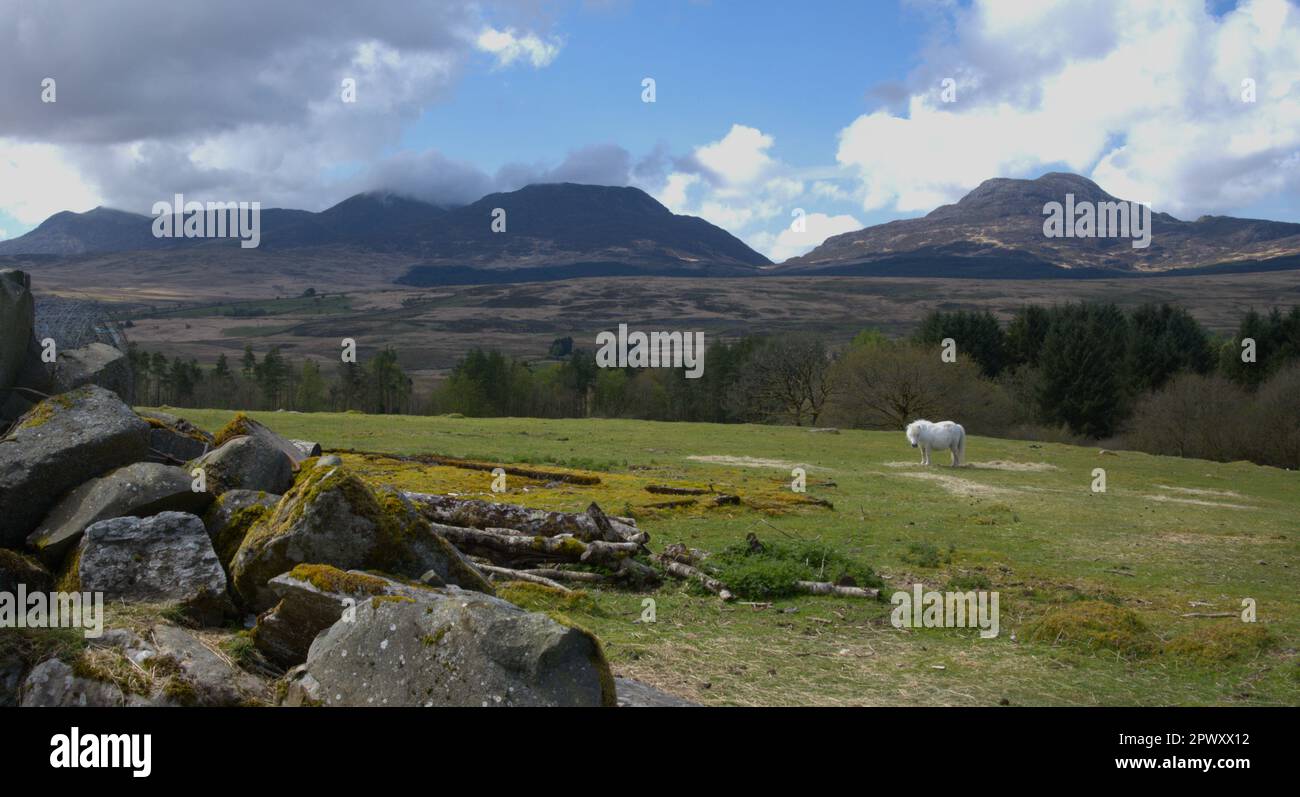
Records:
[[[92,524],[77,575],[83,592],[103,592],[107,601],[178,603],[200,623],[217,624],[233,610],[208,532],[185,512]]]

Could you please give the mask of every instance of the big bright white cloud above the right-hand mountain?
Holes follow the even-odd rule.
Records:
[[[906,112],[840,133],[836,159],[864,211],[919,212],[989,177],[1091,174],[1184,216],[1300,192],[1300,9],[1200,0],[956,8]],[[941,77],[957,79],[942,103]],[[1242,81],[1257,101],[1242,101]]]

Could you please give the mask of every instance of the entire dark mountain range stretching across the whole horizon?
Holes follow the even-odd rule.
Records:
[[[954,204],[826,239],[780,265],[725,230],[675,215],[634,187],[530,185],[442,208],[376,191],[318,213],[261,211],[264,257],[384,256],[406,285],[514,282],[581,276],[1062,277],[1300,268],[1300,224],[1150,213],[1152,238],[1049,238],[1044,207],[1121,202],[1078,174],[994,178]],[[504,231],[493,222],[504,211]],[[0,242],[0,256],[84,257],[155,252],[169,263],[230,261],[234,239],[155,238],[153,218],[109,208],[61,212]],[[250,250],[243,250],[248,252]]]

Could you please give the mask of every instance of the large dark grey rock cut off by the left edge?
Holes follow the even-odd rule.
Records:
[[[36,404],[0,438],[0,547],[21,546],[60,495],[148,447],[148,424],[98,385]]]

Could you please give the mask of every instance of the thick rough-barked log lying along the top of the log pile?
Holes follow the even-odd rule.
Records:
[[[584,542],[649,541],[649,534],[637,528],[636,521],[604,515],[594,503],[586,512],[549,512],[530,510],[516,503],[497,503],[476,498],[452,498],[430,493],[403,493],[432,523],[464,528],[508,528],[526,536],[555,537],[572,534]],[[594,510],[594,512],[593,512]]]

